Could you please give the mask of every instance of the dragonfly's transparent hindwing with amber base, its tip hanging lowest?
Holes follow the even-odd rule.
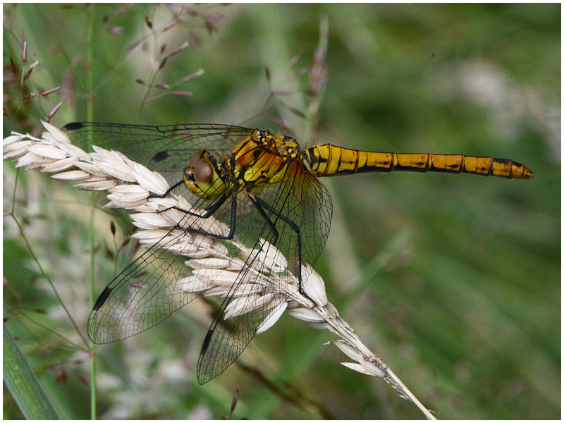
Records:
[[[247,257],[204,340],[197,365],[200,384],[221,374],[243,353],[265,319],[280,314],[281,308],[286,307],[288,292],[298,290],[296,285],[287,285],[288,271],[300,275],[300,265],[313,265],[321,254],[331,226],[331,197],[317,178],[302,169],[299,162],[295,165],[294,170],[290,168],[295,172],[292,177],[282,183],[264,185],[256,192],[255,196],[269,205],[262,207],[266,216],[255,205],[237,220],[235,232],[240,239],[254,242],[248,244],[254,247],[254,252]],[[299,237],[295,228],[299,228]],[[276,249],[267,244],[259,252],[262,244],[255,242],[259,238],[275,243],[276,249],[290,260],[289,269],[276,271],[264,262],[264,256]],[[279,286],[283,283],[286,286]],[[247,295],[253,284],[257,293]],[[240,309],[241,314],[233,316],[233,308]]]

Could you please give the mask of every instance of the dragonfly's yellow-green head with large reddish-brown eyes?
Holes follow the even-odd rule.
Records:
[[[190,159],[184,171],[184,183],[190,191],[206,200],[215,200],[226,189],[216,159],[205,150],[200,150]]]

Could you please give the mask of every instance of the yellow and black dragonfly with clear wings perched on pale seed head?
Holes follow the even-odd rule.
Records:
[[[226,243],[237,238],[256,250],[264,240],[274,245],[293,260],[303,295],[300,269],[306,263],[314,266],[331,227],[331,196],[319,178],[391,171],[534,177],[529,168],[508,159],[366,152],[330,144],[302,148],[289,135],[234,125],[69,123],[62,130],[78,147],[115,149],[161,173],[170,186],[164,196],[188,199],[190,209],[178,209],[186,221],[218,219],[229,228],[214,233],[201,224],[178,225],[183,235],[200,233]],[[92,342],[111,343],[146,331],[199,295],[174,290],[174,281],[190,274],[184,259],[164,250],[164,244],[143,252],[99,295],[88,322]],[[265,319],[266,313],[256,309],[228,316],[231,300],[244,295],[245,269],[260,266],[259,255],[249,255],[219,305],[197,364],[200,384],[223,373]]]

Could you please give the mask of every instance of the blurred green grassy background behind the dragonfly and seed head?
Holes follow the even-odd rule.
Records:
[[[324,16],[329,79],[323,96],[308,97],[300,70]],[[117,123],[276,131],[283,120],[305,144],[524,163],[536,179],[324,180],[333,226],[316,269],[341,316],[439,419],[560,418],[560,4],[4,4],[3,60],[4,136],[37,133],[62,102],[57,126],[86,120],[89,107],[94,121]],[[69,184],[35,171],[16,179],[4,164],[4,318],[73,419],[89,416],[90,355],[9,213],[86,336],[91,204]],[[109,219],[128,224],[96,211],[96,295],[121,270],[108,258],[121,242]],[[324,345],[330,333],[287,316],[198,386],[205,310],[191,304],[97,347],[100,417],[219,418],[238,388],[235,418],[422,418],[382,379],[341,366],[349,360]],[[19,417],[4,395],[4,418]]]

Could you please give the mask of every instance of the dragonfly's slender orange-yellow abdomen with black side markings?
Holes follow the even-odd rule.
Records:
[[[516,161],[463,154],[378,153],[315,145],[307,150],[309,168],[315,176],[338,176],[364,172],[476,173],[502,178],[534,178],[533,172]]]

